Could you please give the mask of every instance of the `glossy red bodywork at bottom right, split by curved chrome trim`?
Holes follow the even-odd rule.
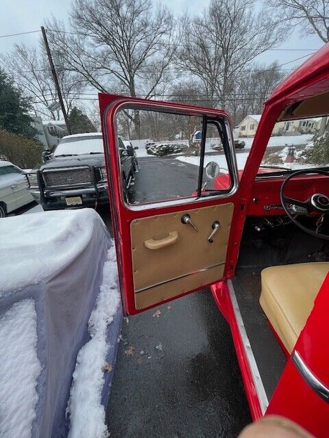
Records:
[[[300,353],[308,368],[327,387],[329,387],[328,309],[329,274],[315,298],[313,311],[295,345],[295,350]],[[267,414],[291,418],[315,437],[329,436],[329,404],[307,385],[291,359],[274,391]]]

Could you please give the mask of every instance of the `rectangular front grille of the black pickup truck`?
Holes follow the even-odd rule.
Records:
[[[47,187],[58,187],[60,185],[89,184],[93,180],[88,167],[62,169],[43,172],[43,178]]]

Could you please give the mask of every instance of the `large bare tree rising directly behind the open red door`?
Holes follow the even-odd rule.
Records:
[[[75,0],[71,34],[54,18],[46,25],[65,67],[97,90],[151,98],[166,88],[175,23],[160,3],[154,10],[150,0]],[[138,136],[138,112],[133,118]]]

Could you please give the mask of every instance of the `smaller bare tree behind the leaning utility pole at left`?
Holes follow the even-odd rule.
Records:
[[[5,70],[14,78],[25,93],[32,98],[36,110],[53,120],[60,118],[60,111],[50,111],[49,104],[58,99],[55,84],[45,53],[43,42],[40,49],[27,47],[25,44],[15,44],[11,53],[1,56]],[[69,114],[75,99],[82,90],[82,83],[72,72],[58,70],[58,81],[62,96]]]

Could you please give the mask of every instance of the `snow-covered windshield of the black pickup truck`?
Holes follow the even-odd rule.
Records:
[[[54,157],[66,155],[83,155],[88,153],[104,153],[101,136],[63,138],[58,144]]]

